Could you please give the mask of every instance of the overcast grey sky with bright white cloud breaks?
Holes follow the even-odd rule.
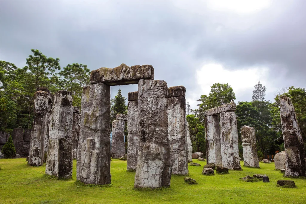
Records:
[[[282,87],[306,87],[306,1],[17,1],[0,0],[0,59],[23,67],[30,49],[61,66],[91,70],[153,65],[155,80],[186,87],[186,99],[229,83],[251,101]],[[125,97],[137,85],[121,88]]]

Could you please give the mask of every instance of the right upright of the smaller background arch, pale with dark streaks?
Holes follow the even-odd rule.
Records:
[[[235,112],[220,113],[220,128],[222,166],[232,170],[241,170]]]

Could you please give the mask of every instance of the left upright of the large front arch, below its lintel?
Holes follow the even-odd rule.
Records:
[[[85,184],[110,184],[110,87],[85,86],[76,179]]]

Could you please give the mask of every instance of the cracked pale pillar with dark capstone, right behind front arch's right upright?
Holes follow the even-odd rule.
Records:
[[[172,152],[172,174],[188,174],[188,141],[186,121],[186,89],[168,88],[168,136]]]

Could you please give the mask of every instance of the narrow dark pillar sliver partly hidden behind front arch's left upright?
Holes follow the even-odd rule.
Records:
[[[80,124],[81,114],[79,107],[73,106],[73,117],[72,117],[72,152],[73,159],[76,159],[77,149],[80,139]]]

